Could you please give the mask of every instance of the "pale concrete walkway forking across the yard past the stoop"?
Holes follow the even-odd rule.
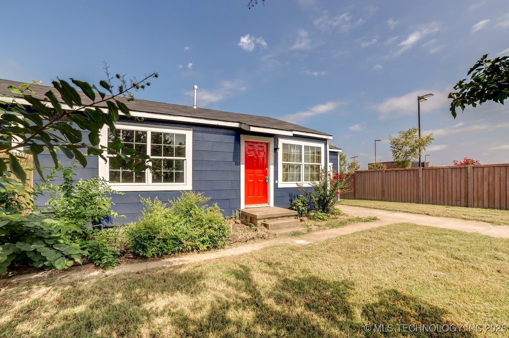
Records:
[[[114,276],[120,273],[126,272],[137,272],[140,270],[146,270],[157,267],[176,267],[188,263],[208,261],[210,259],[217,259],[229,256],[236,256],[252,251],[260,250],[274,245],[305,245],[309,243],[321,242],[330,238],[348,235],[349,233],[362,231],[366,229],[375,228],[378,226],[393,224],[393,223],[414,223],[419,225],[435,226],[439,228],[447,228],[460,230],[465,232],[477,232],[483,235],[489,235],[498,238],[509,238],[509,226],[505,225],[492,225],[490,223],[478,222],[478,221],[467,221],[455,218],[446,217],[434,217],[427,215],[407,214],[407,213],[396,213],[384,210],[369,209],[365,207],[347,206],[341,205],[340,209],[349,215],[369,217],[376,216],[379,218],[378,221],[363,222],[350,224],[342,228],[329,229],[324,231],[317,231],[307,233],[300,237],[290,238],[276,238],[269,241],[249,243],[234,248],[220,249],[216,251],[208,251],[204,253],[189,253],[170,258],[150,260],[142,263],[134,263],[118,266],[112,270],[104,271],[92,264],[85,267],[77,267],[77,271],[73,271],[70,268],[67,271],[44,271],[35,274],[20,275],[9,279],[0,280],[0,284],[10,281],[22,281],[27,279],[54,276],[61,274],[62,278],[59,282],[68,282],[77,279],[89,279],[89,278],[106,278]],[[81,268],[81,269],[80,269]]]

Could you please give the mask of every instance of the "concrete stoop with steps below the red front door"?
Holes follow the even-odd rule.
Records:
[[[261,224],[274,232],[276,237],[289,236],[296,231],[306,231],[300,226],[300,221],[295,219],[295,216],[297,216],[296,211],[277,206],[255,207],[240,211],[240,219],[243,223]]]

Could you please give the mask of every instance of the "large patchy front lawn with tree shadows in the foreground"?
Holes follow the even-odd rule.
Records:
[[[507,325],[508,281],[509,240],[401,223],[173,269],[0,284],[0,336],[364,337],[382,336],[366,324]],[[449,333],[435,336],[485,336]]]

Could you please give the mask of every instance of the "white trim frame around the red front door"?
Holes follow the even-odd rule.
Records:
[[[261,136],[251,136],[251,135],[240,135],[240,209],[244,209],[246,207],[246,197],[245,197],[245,142],[246,141],[254,141],[254,142],[266,142],[268,143],[268,159],[267,164],[269,166],[269,196],[268,202],[269,206],[274,206],[274,139],[269,137],[261,137]]]

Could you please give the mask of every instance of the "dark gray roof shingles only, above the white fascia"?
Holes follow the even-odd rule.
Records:
[[[22,82],[10,81],[0,79],[0,93],[2,94],[12,94],[7,90],[8,86],[19,87]],[[48,90],[52,90],[55,95],[58,96],[58,91],[53,87],[48,86],[32,86],[37,94],[34,95],[37,98],[44,98],[44,93]],[[86,95],[82,92],[79,92],[81,96],[81,100],[83,103],[90,102]],[[148,101],[148,100],[139,100],[136,99],[134,101],[127,102],[125,99],[123,100],[126,105],[132,111],[137,112],[146,112],[146,113],[156,113],[156,114],[164,114],[164,115],[172,115],[172,116],[184,116],[196,119],[205,119],[212,121],[223,121],[223,122],[237,122],[246,124],[253,127],[261,127],[261,128],[271,128],[277,129],[280,131],[288,131],[288,132],[301,132],[301,133],[312,133],[321,136],[331,136],[330,134],[323,133],[317,131],[315,129],[306,128],[304,126],[278,120],[272,117],[267,116],[257,116],[257,115],[248,115],[248,114],[239,114],[239,113],[230,113],[230,112],[222,112],[217,110],[205,109],[205,108],[192,108],[187,106],[174,105],[172,103],[164,103],[164,102],[156,102],[156,101]],[[98,105],[100,107],[106,107],[105,103]]]

